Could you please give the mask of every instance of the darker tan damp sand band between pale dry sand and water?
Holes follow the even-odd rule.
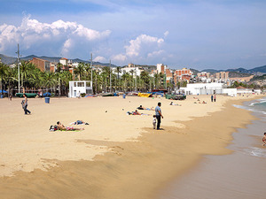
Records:
[[[166,130],[161,133],[154,133],[153,129],[144,128],[144,131],[150,134],[142,133],[137,142],[79,139],[78,142],[99,148],[106,146],[110,151],[104,156],[95,157],[93,162],[57,161],[60,166],[53,167],[48,172],[41,170],[30,173],[17,172],[14,177],[1,178],[0,182],[4,188],[0,188],[0,193],[5,198],[19,198],[18,194],[20,198],[30,198],[35,194],[43,197],[49,195],[49,198],[62,197],[62,195],[64,197],[68,195],[66,198],[122,198],[124,195],[127,195],[127,198],[154,198],[158,195],[157,191],[176,178],[176,175],[189,172],[197,165],[202,155],[223,155],[231,152],[229,149],[224,149],[231,142],[231,131],[239,126],[246,126],[254,119],[248,111],[230,107],[229,104],[236,102],[229,100],[222,111],[208,113],[205,117],[177,121],[177,124],[181,123],[186,126],[185,128],[177,128],[178,125],[173,127],[163,125]],[[231,111],[231,109],[236,110]],[[221,117],[226,120],[230,118],[229,116],[239,118],[231,119],[226,126],[218,121]],[[211,125],[207,126],[209,128],[207,129],[204,124]],[[216,129],[215,134],[211,134],[219,125],[222,126]],[[199,130],[196,126],[201,126],[203,129]],[[223,131],[231,133],[223,134]],[[199,134],[200,138],[197,137]],[[213,150],[212,153],[210,150]],[[28,181],[33,183],[28,185]],[[44,183],[45,181],[48,182]],[[155,181],[158,183],[153,183]],[[36,186],[40,182],[43,182],[44,191]],[[12,192],[10,195],[11,185],[16,185],[20,190],[19,193]]]

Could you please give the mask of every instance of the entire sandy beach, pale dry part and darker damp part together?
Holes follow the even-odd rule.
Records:
[[[0,195],[3,198],[154,198],[168,181],[189,172],[202,155],[231,153],[231,133],[254,117],[231,106],[257,96],[188,96],[171,101],[137,96],[0,101]],[[152,116],[127,115],[162,103],[164,130]],[[196,103],[194,103],[196,102]],[[154,114],[154,111],[140,111]],[[58,120],[90,123],[81,132],[49,132]]]

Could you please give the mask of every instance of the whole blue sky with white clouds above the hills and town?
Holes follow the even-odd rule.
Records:
[[[0,0],[0,54],[114,65],[266,65],[265,0]]]

